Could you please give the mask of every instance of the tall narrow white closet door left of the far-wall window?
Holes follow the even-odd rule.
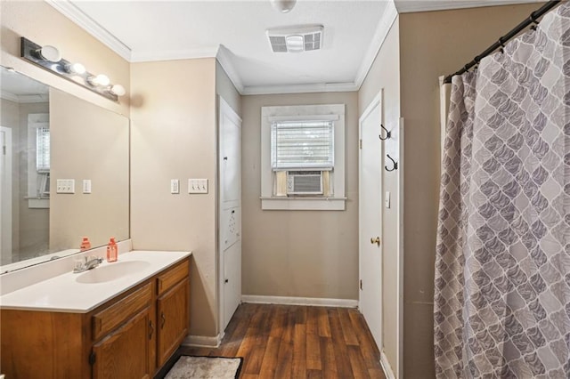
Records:
[[[222,99],[219,115],[220,327],[241,302],[241,119]]]

